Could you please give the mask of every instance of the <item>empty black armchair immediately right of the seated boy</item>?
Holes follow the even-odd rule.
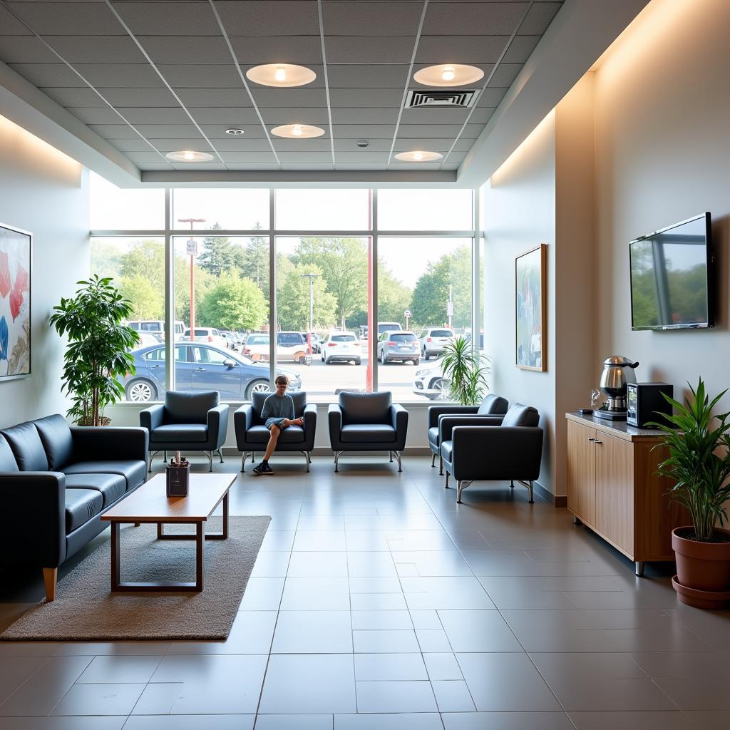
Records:
[[[335,472],[343,451],[388,451],[391,461],[395,454],[398,471],[403,471],[408,412],[391,403],[391,393],[340,393],[339,403],[329,407],[328,422]]]

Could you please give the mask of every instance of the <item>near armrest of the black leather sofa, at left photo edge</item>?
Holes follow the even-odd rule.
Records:
[[[7,519],[0,530],[0,564],[57,568],[66,560],[66,475],[0,472]]]

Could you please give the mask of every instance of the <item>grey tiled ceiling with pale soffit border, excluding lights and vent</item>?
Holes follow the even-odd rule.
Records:
[[[644,4],[0,0],[0,113],[118,185],[471,186]],[[485,72],[474,106],[404,110],[413,74],[445,61]],[[247,82],[251,66],[275,62],[309,66],[317,78],[300,88]],[[326,134],[269,134],[287,123]],[[231,126],[245,134],[226,135]],[[214,159],[164,157],[180,149]],[[396,160],[415,149],[443,159]]]

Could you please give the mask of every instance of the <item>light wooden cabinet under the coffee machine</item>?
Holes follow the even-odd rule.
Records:
[[[568,419],[568,510],[636,563],[674,560],[672,529],[689,515],[670,504],[669,482],[656,475],[659,432],[591,416]]]

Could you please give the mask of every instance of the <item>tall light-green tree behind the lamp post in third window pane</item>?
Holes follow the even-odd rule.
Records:
[[[294,264],[319,266],[327,291],[334,295],[337,323],[367,306],[367,250],[361,238],[310,237],[301,239]]]

